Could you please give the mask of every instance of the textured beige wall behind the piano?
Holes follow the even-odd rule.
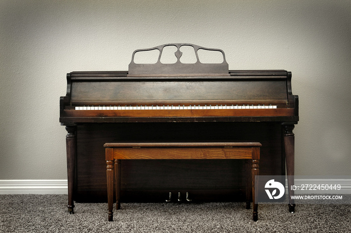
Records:
[[[65,179],[66,73],[127,70],[135,49],[168,43],[222,49],[230,69],[291,71],[296,174],[349,174],[348,0],[0,0],[0,179]]]

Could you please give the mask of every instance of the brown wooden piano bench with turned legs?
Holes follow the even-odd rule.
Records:
[[[246,208],[252,193],[253,220],[258,212],[255,175],[259,174],[261,143],[105,143],[107,163],[108,220],[113,221],[113,180],[116,180],[116,209],[120,209],[121,159],[246,159]],[[250,161],[251,160],[251,161]],[[251,162],[251,166],[250,166]],[[251,180],[250,180],[251,167]],[[251,192],[252,190],[252,192]]]

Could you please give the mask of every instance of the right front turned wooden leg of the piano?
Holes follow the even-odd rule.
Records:
[[[286,173],[288,175],[288,187],[294,185],[294,156],[295,156],[295,136],[292,130],[294,125],[284,125],[284,147],[285,147],[285,161],[286,161]],[[289,212],[295,211],[295,202],[291,198],[294,195],[294,190],[288,189],[289,191]]]

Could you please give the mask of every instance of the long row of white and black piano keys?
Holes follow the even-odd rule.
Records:
[[[277,105],[178,105],[178,106],[76,106],[75,110],[196,110],[196,109],[276,109]]]

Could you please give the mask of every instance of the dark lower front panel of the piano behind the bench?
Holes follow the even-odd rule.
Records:
[[[76,201],[106,201],[106,142],[232,141],[261,142],[260,174],[285,171],[282,128],[278,123],[101,123],[77,126]],[[138,190],[159,196],[160,190],[208,190],[211,195],[245,190],[243,160],[123,160],[121,200]],[[133,191],[135,190],[135,191]],[[164,191],[165,194],[167,191]],[[205,191],[206,192],[206,191]],[[198,195],[199,197],[201,195]],[[206,196],[206,195],[205,195]],[[214,195],[215,196],[215,195]],[[141,196],[132,201],[147,201]],[[202,197],[200,197],[202,198]],[[207,195],[207,200],[211,198]],[[123,200],[124,199],[124,200]],[[159,201],[164,201],[160,199]]]

